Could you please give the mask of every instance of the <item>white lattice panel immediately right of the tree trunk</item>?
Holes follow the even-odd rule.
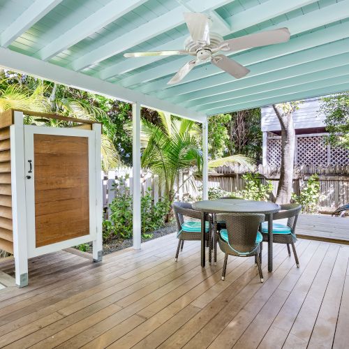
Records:
[[[327,144],[319,136],[297,138],[297,163],[299,165],[327,165]]]

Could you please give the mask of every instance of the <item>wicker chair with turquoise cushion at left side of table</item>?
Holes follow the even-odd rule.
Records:
[[[177,252],[176,252],[176,262],[178,260],[179,250],[183,250],[185,240],[201,240],[201,216],[202,213],[193,209],[193,205],[188,202],[174,202],[172,205],[174,211],[174,217],[177,222],[177,238],[179,239]],[[185,220],[187,218],[196,218],[199,221]],[[205,239],[207,246],[209,246],[209,263],[211,264],[211,216],[207,217],[205,222]]]

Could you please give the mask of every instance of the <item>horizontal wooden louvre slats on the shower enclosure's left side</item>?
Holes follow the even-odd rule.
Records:
[[[13,111],[0,114],[0,249],[13,253],[10,125]]]

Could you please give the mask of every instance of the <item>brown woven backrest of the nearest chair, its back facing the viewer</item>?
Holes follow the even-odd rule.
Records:
[[[218,221],[225,221],[228,230],[228,241],[239,253],[249,253],[255,248],[260,223],[265,220],[264,214],[217,214]]]

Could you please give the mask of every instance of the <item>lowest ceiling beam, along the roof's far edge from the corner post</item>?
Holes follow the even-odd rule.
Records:
[[[306,98],[314,98],[320,96],[326,96],[329,94],[336,94],[343,91],[349,90],[349,82],[344,82],[342,84],[327,85],[319,89],[310,89],[307,91],[297,92],[295,94],[287,94],[285,96],[277,96],[276,98],[268,98],[262,101],[254,101],[251,103],[244,103],[241,105],[228,105],[225,107],[220,107],[215,110],[210,110],[207,112],[207,116],[224,114],[229,112],[237,112],[238,110],[248,110],[256,107],[265,107],[271,104],[284,103],[290,101],[300,101]]]

